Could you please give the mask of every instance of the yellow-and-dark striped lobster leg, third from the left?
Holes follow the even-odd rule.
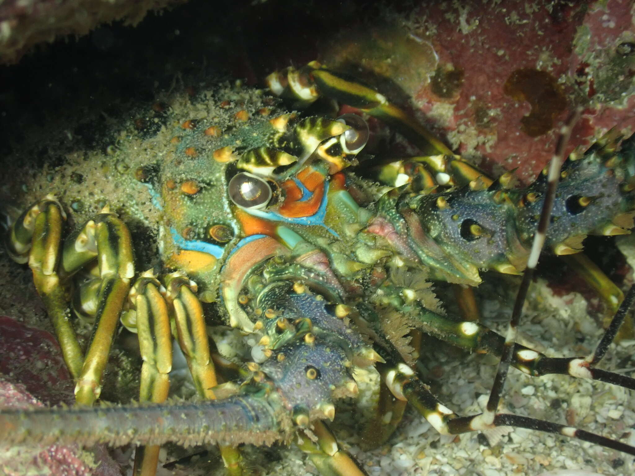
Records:
[[[129,309],[121,322],[139,339],[141,357],[140,402],[161,403],[168,398],[172,369],[172,333],[168,305],[161,294],[163,286],[152,271],[142,274],[132,289]],[[138,446],[135,451],[134,476],[154,476],[161,446]]]

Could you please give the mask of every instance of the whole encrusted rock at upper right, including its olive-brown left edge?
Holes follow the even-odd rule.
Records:
[[[634,15],[628,0],[426,1],[387,25],[344,33],[316,56],[387,78],[405,93],[391,100],[413,107],[452,150],[493,176],[517,168],[528,183],[572,107],[584,110],[570,149],[612,127],[635,128]]]

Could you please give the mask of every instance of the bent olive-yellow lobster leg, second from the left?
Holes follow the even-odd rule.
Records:
[[[93,404],[101,393],[102,374],[112,338],[128,296],[130,279],[135,275],[130,231],[108,209],[104,209],[95,221],[86,223],[79,234],[69,237],[64,246],[62,266],[66,272],[74,272],[93,254],[98,258],[101,279],[96,327],[75,387],[77,403],[84,405]]]

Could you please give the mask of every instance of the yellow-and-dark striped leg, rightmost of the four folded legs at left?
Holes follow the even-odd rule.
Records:
[[[164,279],[166,299],[177,326],[178,343],[187,360],[194,386],[199,396],[215,400],[212,387],[218,382],[210,356],[210,344],[203,315],[203,307],[196,297],[196,284],[176,272]],[[218,445],[227,472],[232,476],[243,475],[243,457],[236,447]]]

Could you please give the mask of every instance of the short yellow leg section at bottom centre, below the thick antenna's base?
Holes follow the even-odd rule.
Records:
[[[298,447],[309,455],[322,476],[368,476],[359,463],[344,449],[340,449],[335,435],[321,420],[312,423],[313,441],[307,433],[298,431]]]

